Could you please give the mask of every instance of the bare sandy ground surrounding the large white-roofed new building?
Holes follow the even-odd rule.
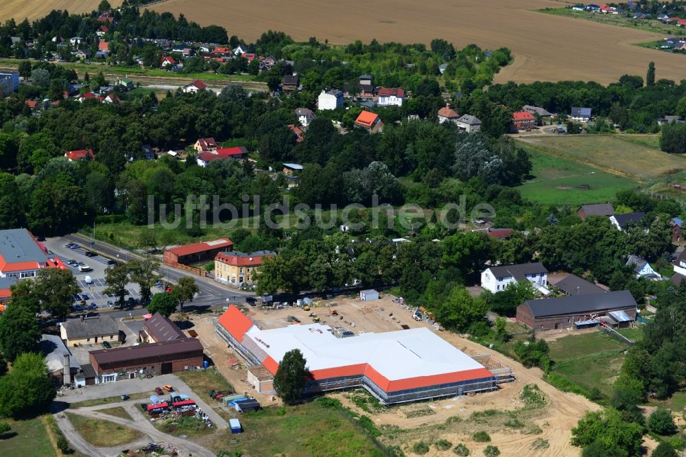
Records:
[[[397,303],[392,303],[390,297],[384,297],[379,301],[362,302],[351,298],[336,298],[337,303],[335,309],[342,315],[343,319],[338,316],[330,316],[329,309],[331,307],[316,307],[312,311],[316,312],[323,322],[329,325],[343,325],[347,329],[359,332],[370,331],[392,331],[401,329],[401,325],[408,325],[409,327],[427,326],[432,331],[433,327],[425,323],[417,323],[412,320],[411,312],[407,309],[402,309]],[[292,315],[299,318],[303,323],[311,323],[311,318],[308,318],[309,312],[302,309],[288,308],[275,311],[263,312],[259,308],[250,309],[252,318],[257,320],[259,325],[263,328],[281,327],[287,324],[287,316]],[[390,316],[392,314],[392,316]],[[246,384],[246,369],[230,368],[228,360],[236,358],[233,351],[226,349],[224,343],[214,332],[212,325],[212,318],[210,316],[193,316],[191,318],[196,331],[200,335],[200,339],[205,347],[206,353],[209,353],[219,371],[228,378],[228,380],[237,388],[239,392],[247,390],[250,395],[254,395],[263,404],[274,404],[278,402],[272,401],[271,395],[257,395],[255,390]],[[351,323],[355,323],[355,327],[351,327]],[[502,456],[578,456],[580,449],[569,444],[571,439],[571,428],[576,426],[578,420],[583,416],[587,410],[596,410],[600,408],[595,403],[580,397],[579,395],[560,392],[556,388],[550,386],[543,381],[543,373],[538,368],[524,368],[518,362],[506,358],[504,355],[490,351],[488,348],[476,344],[455,333],[447,331],[437,332],[439,336],[445,338],[448,342],[453,344],[456,348],[469,353],[471,355],[490,354],[495,360],[501,362],[506,366],[513,368],[517,380],[510,384],[501,384],[501,388],[497,392],[488,392],[485,394],[475,395],[473,397],[458,397],[445,399],[440,401],[431,401],[429,403],[421,403],[419,405],[407,405],[399,408],[392,408],[384,410],[383,412],[369,414],[358,410],[345,394],[333,394],[339,398],[344,404],[354,410],[358,410],[362,414],[370,416],[377,426],[380,425],[397,425],[403,429],[413,429],[415,427],[422,427],[425,425],[439,425],[445,423],[445,420],[451,416],[459,416],[462,419],[467,419],[475,411],[482,411],[487,409],[495,410],[514,410],[521,408],[522,403],[519,400],[519,392],[526,384],[537,384],[543,393],[547,396],[549,404],[538,412],[538,416],[534,418],[534,423],[539,425],[543,432],[541,434],[524,434],[519,430],[502,430],[490,434],[491,443],[497,445],[501,451]],[[435,414],[422,417],[407,417],[405,412],[413,408],[431,408]],[[476,431],[476,430],[473,430]],[[447,429],[440,434],[441,438],[446,438],[451,443],[466,443],[471,449],[473,455],[481,455],[482,449],[489,443],[474,443],[471,441],[471,433],[456,434],[449,432]],[[543,438],[548,441],[549,447],[540,451],[531,449],[531,445],[536,438]],[[411,443],[405,443],[410,445]],[[409,450],[409,449],[406,449]],[[434,447],[431,447],[431,454],[427,455],[454,455],[452,451],[438,452]]]

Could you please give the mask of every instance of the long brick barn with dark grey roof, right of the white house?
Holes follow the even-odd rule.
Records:
[[[636,320],[636,301],[628,290],[527,300],[517,307],[517,322],[535,330],[628,327]]]

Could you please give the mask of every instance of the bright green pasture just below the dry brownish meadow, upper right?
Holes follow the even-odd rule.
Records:
[[[615,197],[617,191],[637,186],[635,181],[628,178],[524,146],[531,157],[531,174],[534,177],[518,189],[528,200],[543,204],[578,206],[607,202]],[[581,185],[589,185],[591,188],[582,189]]]

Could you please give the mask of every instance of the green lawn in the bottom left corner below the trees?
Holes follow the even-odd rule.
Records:
[[[27,421],[3,419],[12,426],[8,438],[0,439],[0,456],[43,457],[57,456],[40,417]]]

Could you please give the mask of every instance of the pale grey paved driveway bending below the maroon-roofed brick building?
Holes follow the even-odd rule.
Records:
[[[156,387],[171,384],[176,392],[188,395],[193,399],[202,412],[207,414],[211,421],[215,423],[217,428],[226,428],[228,423],[215,412],[206,401],[204,401],[203,392],[193,392],[191,388],[175,375],[162,375],[152,377],[150,379],[124,379],[123,381],[108,382],[106,384],[97,384],[95,386],[88,386],[76,390],[63,390],[64,395],[56,397],[57,401],[64,403],[78,403],[84,400],[93,400],[97,398],[119,397],[120,395],[130,395],[132,393],[150,392],[154,395]],[[140,401],[140,400],[139,400]],[[111,406],[111,403],[110,405]],[[146,419],[147,422],[147,419]]]

